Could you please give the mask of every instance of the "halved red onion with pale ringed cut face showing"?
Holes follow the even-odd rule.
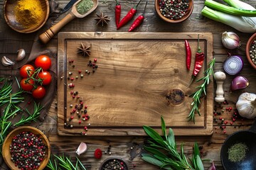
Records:
[[[233,55],[228,57],[227,60],[225,60],[223,64],[223,69],[225,70],[226,73],[230,75],[235,75],[241,72],[243,67],[243,61],[242,57],[238,55]]]

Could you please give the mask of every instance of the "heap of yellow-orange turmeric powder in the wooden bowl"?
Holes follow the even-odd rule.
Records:
[[[20,0],[14,8],[16,20],[25,28],[38,26],[43,18],[43,9],[38,0]]]

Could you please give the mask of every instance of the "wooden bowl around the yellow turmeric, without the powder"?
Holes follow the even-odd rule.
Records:
[[[33,33],[39,28],[41,28],[47,21],[50,7],[48,0],[39,0],[41,2],[41,8],[43,10],[43,16],[41,16],[38,23],[31,27],[23,26],[19,23],[16,19],[15,10],[16,6],[18,5],[17,0],[5,0],[4,1],[4,19],[6,23],[13,29],[19,33]]]

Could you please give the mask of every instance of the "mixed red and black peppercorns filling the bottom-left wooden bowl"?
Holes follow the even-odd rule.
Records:
[[[19,169],[38,169],[46,155],[46,145],[32,132],[14,136],[10,145],[11,161]]]

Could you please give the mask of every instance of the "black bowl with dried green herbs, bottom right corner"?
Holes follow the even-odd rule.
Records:
[[[250,130],[240,130],[230,135],[220,151],[224,169],[255,169],[256,122]]]

